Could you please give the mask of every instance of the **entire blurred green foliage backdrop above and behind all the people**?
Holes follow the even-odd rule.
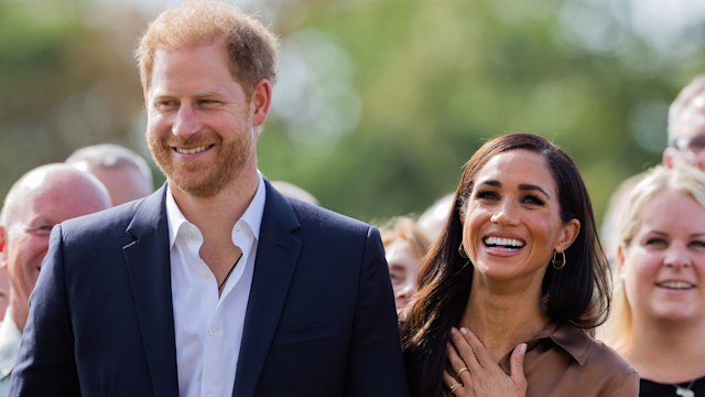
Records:
[[[657,2],[241,1],[282,37],[260,167],[324,206],[380,219],[453,191],[489,137],[531,131],[576,160],[599,218],[622,179],[660,161],[668,105],[705,68],[693,45],[705,7],[676,1],[704,12],[675,25],[649,19]],[[78,146],[145,152],[131,52],[164,4],[116,4],[0,3],[0,190]]]

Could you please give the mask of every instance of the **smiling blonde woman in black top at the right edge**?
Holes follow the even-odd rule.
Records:
[[[655,167],[626,203],[600,337],[639,372],[640,396],[705,396],[705,173]]]

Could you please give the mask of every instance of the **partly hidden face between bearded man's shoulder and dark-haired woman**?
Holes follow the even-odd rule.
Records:
[[[410,216],[400,216],[380,228],[384,257],[394,290],[397,310],[409,303],[409,298],[416,291],[419,264],[429,250],[429,239]]]

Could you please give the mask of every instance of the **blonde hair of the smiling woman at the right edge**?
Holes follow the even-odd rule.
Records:
[[[637,234],[643,216],[647,215],[643,211],[647,204],[664,192],[686,194],[705,208],[705,173],[688,165],[673,169],[657,165],[649,170],[629,194],[621,214],[619,239],[622,249],[629,247]],[[632,313],[619,271],[615,275],[612,311],[608,321],[598,330],[598,334],[617,352],[625,353],[632,344]]]

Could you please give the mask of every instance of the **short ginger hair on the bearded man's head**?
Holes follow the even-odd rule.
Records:
[[[154,53],[225,39],[230,73],[248,95],[262,78],[276,81],[279,42],[260,21],[219,0],[188,0],[162,12],[140,40],[135,57],[144,92],[151,85]]]

